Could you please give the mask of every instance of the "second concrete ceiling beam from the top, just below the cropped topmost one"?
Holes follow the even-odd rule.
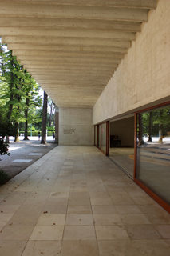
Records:
[[[10,5],[8,2],[0,3],[0,15],[7,17],[83,18],[148,22],[148,9],[107,6],[56,6],[20,2],[11,2]]]

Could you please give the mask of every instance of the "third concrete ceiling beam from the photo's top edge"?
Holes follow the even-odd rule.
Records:
[[[88,29],[88,30],[121,30],[125,32],[140,32],[141,22],[119,22],[75,18],[32,18],[32,17],[0,17],[0,26],[31,27],[50,29]]]

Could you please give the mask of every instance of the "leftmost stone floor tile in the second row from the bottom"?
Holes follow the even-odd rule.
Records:
[[[30,234],[34,230],[34,226],[5,226],[0,233],[0,241],[26,241],[30,238]]]

